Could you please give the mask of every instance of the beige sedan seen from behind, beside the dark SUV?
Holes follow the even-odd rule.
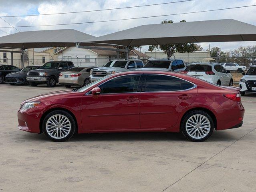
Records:
[[[67,88],[72,85],[85,86],[90,83],[89,76],[91,69],[96,68],[90,67],[73,67],[65,72],[61,72],[58,78],[58,82]]]

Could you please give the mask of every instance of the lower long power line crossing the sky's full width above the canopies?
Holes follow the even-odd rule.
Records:
[[[154,17],[163,17],[163,16],[173,16],[173,15],[192,14],[192,13],[212,12],[212,11],[220,11],[220,10],[228,10],[228,9],[237,9],[237,8],[245,8],[245,7],[252,7],[252,6],[256,6],[256,5],[248,5],[248,6],[240,6],[240,7],[230,7],[230,8],[222,8],[222,9],[204,10],[204,11],[195,11],[195,12],[176,13],[176,14],[166,14],[166,15],[157,15],[157,16],[147,16],[147,17],[126,18],[126,19],[114,19],[114,20],[79,22],[79,23],[66,23],[66,24],[47,24],[47,25],[15,26],[15,27],[18,28],[18,27],[61,26],[61,25],[89,24],[89,23],[100,23],[100,22],[110,22],[110,21],[123,21],[123,20],[133,20],[133,19],[143,19],[143,18],[154,18]],[[12,27],[0,27],[0,28],[12,28]]]

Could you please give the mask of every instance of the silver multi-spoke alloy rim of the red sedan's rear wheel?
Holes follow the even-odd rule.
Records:
[[[191,116],[186,122],[187,134],[194,139],[205,138],[211,129],[209,119],[201,114]]]

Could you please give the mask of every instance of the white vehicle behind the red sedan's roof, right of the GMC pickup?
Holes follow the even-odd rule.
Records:
[[[154,59],[148,61],[141,70],[173,71],[179,72],[185,69],[181,59]]]

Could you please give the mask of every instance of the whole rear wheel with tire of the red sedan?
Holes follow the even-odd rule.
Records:
[[[181,122],[181,132],[188,140],[201,142],[208,139],[214,130],[211,116],[201,110],[187,113]]]

